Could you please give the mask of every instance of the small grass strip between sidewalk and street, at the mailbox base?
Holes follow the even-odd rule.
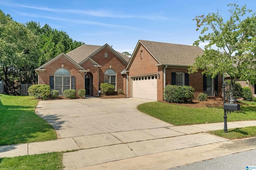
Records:
[[[248,137],[256,137],[256,126],[228,129],[228,133],[224,133],[224,130],[209,131],[208,133],[230,140],[243,139]]]

